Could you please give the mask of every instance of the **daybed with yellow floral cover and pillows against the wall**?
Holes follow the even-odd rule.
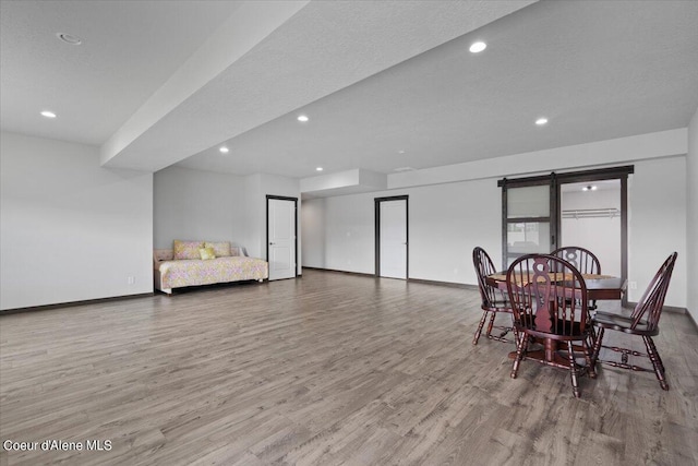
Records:
[[[230,242],[179,241],[173,249],[153,251],[155,288],[168,295],[173,288],[268,278],[268,264],[249,258]]]

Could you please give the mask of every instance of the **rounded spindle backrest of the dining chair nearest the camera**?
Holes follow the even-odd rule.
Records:
[[[581,273],[552,254],[527,254],[506,274],[514,320],[526,328],[558,336],[581,335],[589,309]]]

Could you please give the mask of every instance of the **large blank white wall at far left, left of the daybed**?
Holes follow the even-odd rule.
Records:
[[[97,147],[7,132],[0,171],[0,309],[153,291],[152,174],[101,168]]]

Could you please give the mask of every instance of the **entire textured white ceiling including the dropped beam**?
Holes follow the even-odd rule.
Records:
[[[107,166],[298,178],[687,126],[698,2],[531,3],[2,0],[1,126],[100,145]]]

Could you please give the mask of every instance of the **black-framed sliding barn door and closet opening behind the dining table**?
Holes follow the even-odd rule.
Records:
[[[627,278],[628,176],[634,171],[630,165],[500,180],[502,267],[522,254],[579,246],[603,258],[603,274]]]

